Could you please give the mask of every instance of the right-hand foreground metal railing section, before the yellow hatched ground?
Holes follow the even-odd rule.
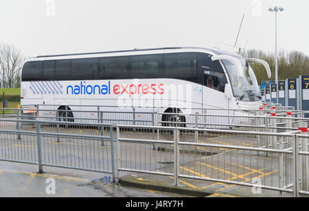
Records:
[[[155,140],[151,140],[143,134],[132,136],[122,133],[127,128],[155,129],[157,135]],[[197,142],[194,140],[196,132],[204,136],[198,138]],[[308,148],[303,147],[299,151],[301,145],[298,144],[304,138],[304,145],[308,147],[309,136],[299,133],[301,131],[266,133],[117,125],[117,171],[174,177],[176,186],[180,178],[247,187],[254,187],[253,181],[260,179],[260,188],[277,190],[280,196],[283,193],[299,196],[308,191],[308,183],[304,184],[307,175],[301,174],[304,171],[301,171],[300,166],[309,169],[308,160],[303,158],[301,161],[300,158],[308,156]],[[237,138],[236,142],[231,141],[232,134]],[[256,136],[264,136],[266,140],[275,137],[278,147],[259,147],[255,140],[250,141],[250,137]],[[286,148],[285,145],[292,147]],[[155,151],[154,146],[157,149]],[[299,189],[299,181],[306,188]]]

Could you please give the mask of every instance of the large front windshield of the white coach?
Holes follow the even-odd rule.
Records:
[[[236,75],[236,67],[227,60],[222,60],[231,81],[233,95],[240,101],[260,101],[260,91],[253,69],[244,58],[238,58],[242,63],[244,77]]]

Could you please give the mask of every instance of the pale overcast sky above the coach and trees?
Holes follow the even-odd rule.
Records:
[[[0,42],[27,56],[149,47],[238,46],[309,55],[308,0],[1,0]]]

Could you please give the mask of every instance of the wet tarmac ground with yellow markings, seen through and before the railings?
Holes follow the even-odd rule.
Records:
[[[14,127],[14,125],[8,125]],[[23,131],[35,132],[33,126],[23,126]],[[42,132],[55,132],[55,127],[42,127]],[[100,136],[100,129],[60,128],[60,133]],[[108,136],[110,132],[104,129]],[[115,137],[115,132],[114,132]],[[173,140],[171,132],[124,130],[121,138]],[[82,139],[42,136],[43,163],[64,167],[84,168],[95,171],[111,171],[111,142],[100,139]],[[194,142],[194,133],[180,134],[181,141]],[[265,138],[265,137],[264,137]],[[259,142],[260,141],[260,142]],[[227,147],[258,147],[263,137],[236,136],[233,134],[198,134],[198,143]],[[279,187],[279,157],[276,154],[257,153],[244,149],[225,147],[192,147],[180,145],[180,186],[174,186],[174,145],[120,142],[119,184],[112,184],[110,174],[92,173],[44,166],[46,174],[37,174],[38,166],[0,162],[0,197],[279,197],[278,191],[255,190],[236,186],[233,182],[253,184],[256,180],[264,186]],[[37,162],[37,143],[33,135],[22,134],[21,140],[13,134],[0,134],[0,159]],[[116,143],[113,152],[117,154]],[[289,155],[284,156],[284,184],[292,181],[292,165]],[[152,174],[139,173],[149,171]],[[47,178],[54,178],[56,195],[47,195]],[[188,178],[191,177],[191,178]],[[195,179],[193,179],[193,177]],[[211,179],[224,180],[228,183]],[[291,197],[290,193],[283,193]]]

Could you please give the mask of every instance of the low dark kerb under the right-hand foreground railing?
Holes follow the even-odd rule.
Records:
[[[202,190],[195,190],[193,188],[172,186],[172,184],[148,182],[145,180],[138,180],[133,177],[122,177],[119,179],[119,184],[123,186],[130,186],[134,188],[151,189],[168,193],[177,193],[181,195],[194,196],[194,197],[207,197],[213,193],[207,193]]]

